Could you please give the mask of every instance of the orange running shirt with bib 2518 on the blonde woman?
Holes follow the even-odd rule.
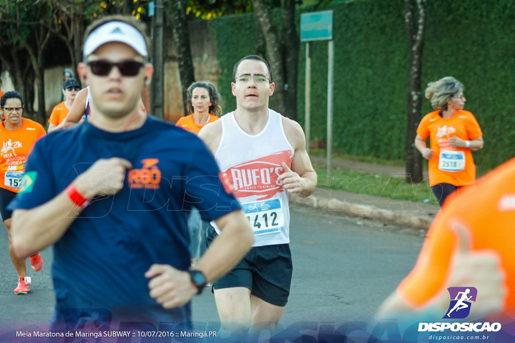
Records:
[[[476,166],[468,148],[449,146],[449,138],[457,136],[473,140],[483,136],[474,115],[458,110],[451,118],[442,118],[439,111],[428,113],[420,121],[417,134],[426,139],[430,136],[433,157],[429,160],[429,184],[448,183],[454,186],[472,185],[476,179]],[[447,158],[441,158],[447,157]],[[465,165],[455,165],[456,160],[465,159]],[[461,169],[461,170],[460,170]]]

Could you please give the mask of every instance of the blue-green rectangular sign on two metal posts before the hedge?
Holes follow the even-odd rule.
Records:
[[[328,42],[328,77],[327,77],[327,175],[332,178],[333,154],[333,11],[307,12],[300,15],[300,41],[306,42],[306,98],[305,98],[305,135],[306,149],[310,148],[311,132],[311,43]]]

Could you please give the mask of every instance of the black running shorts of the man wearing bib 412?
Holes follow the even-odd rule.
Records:
[[[247,287],[252,295],[285,306],[292,273],[289,244],[256,246],[226,276],[215,281],[213,288]]]

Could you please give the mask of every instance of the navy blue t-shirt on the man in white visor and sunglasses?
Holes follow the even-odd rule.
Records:
[[[207,221],[239,208],[222,186],[211,152],[194,134],[150,116],[129,132],[109,133],[86,121],[50,134],[29,155],[22,191],[9,207],[42,205],[96,160],[110,157],[132,163],[123,189],[93,198],[54,244],[54,325],[64,319],[74,329],[92,313],[105,323],[191,320],[189,304],[164,310],[150,298],[144,273],[153,263],[188,269],[193,205]]]

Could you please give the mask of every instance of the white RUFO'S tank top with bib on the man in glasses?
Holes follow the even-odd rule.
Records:
[[[268,109],[265,128],[257,135],[244,132],[234,112],[220,120],[222,137],[215,159],[222,180],[232,186],[249,219],[253,246],[289,243],[288,192],[277,177],[283,162],[291,168],[294,149],[284,133],[282,115]]]

